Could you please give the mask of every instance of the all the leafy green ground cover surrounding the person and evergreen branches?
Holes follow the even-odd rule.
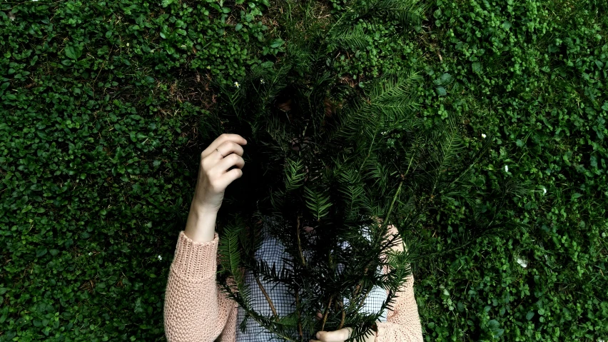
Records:
[[[422,4],[416,30],[362,23],[365,47],[331,63],[363,87],[422,71],[429,124],[457,116],[472,151],[497,136],[478,185],[537,184],[508,203],[528,229],[455,249],[466,213],[449,203],[412,232],[437,253],[415,265],[423,335],[606,340],[608,5]],[[268,1],[0,4],[0,341],[164,340],[168,267],[210,142],[199,120],[220,101],[211,81],[280,64],[279,12]]]

